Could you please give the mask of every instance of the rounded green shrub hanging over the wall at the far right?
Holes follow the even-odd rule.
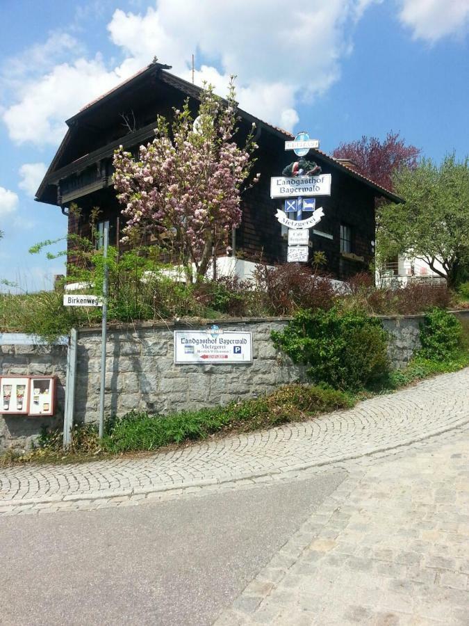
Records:
[[[425,314],[420,324],[418,352],[427,359],[446,359],[461,348],[461,322],[451,313],[433,309]]]

